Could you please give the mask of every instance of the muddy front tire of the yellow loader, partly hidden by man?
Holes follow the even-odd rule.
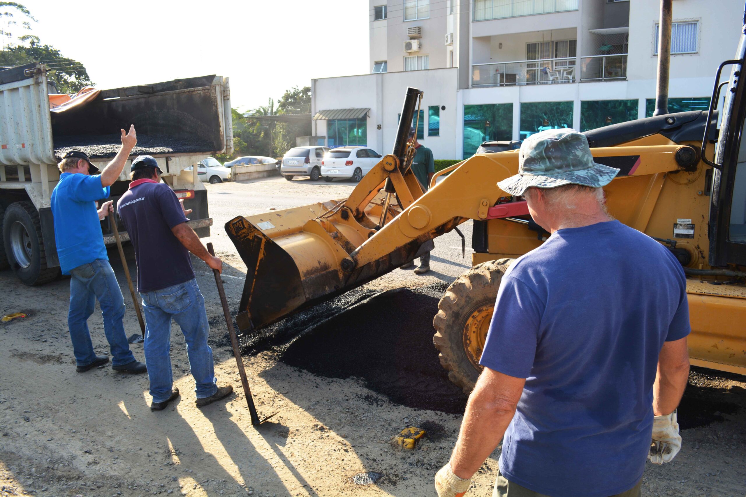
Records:
[[[514,259],[483,262],[459,276],[445,291],[433,318],[433,343],[448,379],[469,393],[482,371],[479,359],[495,309],[498,288]]]

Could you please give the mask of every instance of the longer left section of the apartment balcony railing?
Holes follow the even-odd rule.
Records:
[[[574,83],[575,57],[474,64],[471,86]]]

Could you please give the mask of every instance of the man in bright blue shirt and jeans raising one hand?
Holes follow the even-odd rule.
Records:
[[[70,308],[67,326],[78,373],[106,364],[106,355],[93,352],[87,320],[95,309],[95,300],[104,317],[104,334],[109,342],[112,367],[123,373],[145,373],[145,364],[135,360],[125,334],[122,318],[125,300],[116,282],[114,271],[101,232],[101,219],[111,212],[111,201],[96,209],[96,201],[107,198],[128,156],[137,144],[134,126],[129,133],[122,130],[122,148],[114,159],[98,173],[83,151],[69,151],[60,168],[60,181],[51,193],[54,216],[54,240],[63,274],[70,278]]]

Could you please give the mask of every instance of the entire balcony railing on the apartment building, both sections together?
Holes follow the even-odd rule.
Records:
[[[627,54],[474,64],[471,86],[521,86],[627,79]]]

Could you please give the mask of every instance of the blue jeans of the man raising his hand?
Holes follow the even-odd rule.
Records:
[[[130,350],[122,323],[122,318],[125,317],[125,299],[109,261],[96,259],[90,264],[70,270],[70,276],[67,326],[70,329],[75,363],[87,366],[95,361],[88,318],[93,314],[96,299],[104,317],[104,334],[111,349],[112,364],[122,366],[133,362],[135,356]]]

